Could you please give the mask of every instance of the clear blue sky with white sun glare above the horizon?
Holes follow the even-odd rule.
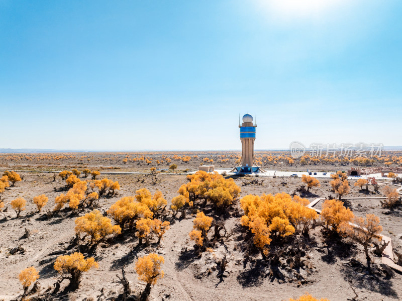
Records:
[[[402,145],[401,14],[397,0],[0,0],[0,148],[240,149],[239,113],[257,114],[256,149]]]

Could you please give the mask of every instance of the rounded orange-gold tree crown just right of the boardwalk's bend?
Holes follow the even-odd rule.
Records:
[[[334,231],[341,232],[341,227],[351,222],[353,218],[353,212],[349,208],[345,208],[341,200],[325,200],[321,211],[321,219],[325,222],[327,228],[331,226]]]

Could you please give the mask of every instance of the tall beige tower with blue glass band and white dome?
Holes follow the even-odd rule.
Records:
[[[250,114],[243,116],[242,125],[240,128],[240,141],[242,142],[242,157],[239,165],[237,165],[232,172],[237,174],[250,174],[250,173],[265,173],[254,160],[254,140],[255,128],[257,125],[253,124],[253,117]]]

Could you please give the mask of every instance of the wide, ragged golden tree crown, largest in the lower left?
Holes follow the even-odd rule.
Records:
[[[120,226],[112,225],[111,219],[104,217],[98,210],[93,210],[83,217],[75,219],[75,233],[86,233],[90,236],[90,244],[102,242],[108,235],[120,234]]]

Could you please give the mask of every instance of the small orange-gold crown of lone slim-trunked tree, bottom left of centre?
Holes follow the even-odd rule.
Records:
[[[155,253],[138,258],[135,264],[138,279],[148,284],[156,284],[157,280],[164,276],[161,269],[161,264],[164,262],[164,258]]]

